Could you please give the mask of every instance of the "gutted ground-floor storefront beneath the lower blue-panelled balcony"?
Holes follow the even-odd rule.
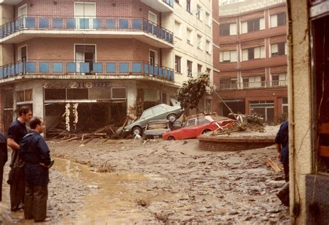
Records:
[[[159,103],[170,104],[176,88],[148,81],[29,80],[2,88],[3,131],[15,119],[15,110],[29,106],[43,117],[45,135],[63,131],[90,133],[104,126],[124,124]]]

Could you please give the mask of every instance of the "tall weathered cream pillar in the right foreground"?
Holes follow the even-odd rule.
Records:
[[[289,168],[292,223],[306,224],[305,174],[312,172],[311,63],[308,1],[288,1],[292,21],[289,49]],[[294,215],[298,209],[300,213]]]

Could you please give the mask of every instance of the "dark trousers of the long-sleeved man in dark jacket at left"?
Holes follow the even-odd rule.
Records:
[[[25,188],[25,219],[42,221],[47,217],[48,186],[26,186]]]

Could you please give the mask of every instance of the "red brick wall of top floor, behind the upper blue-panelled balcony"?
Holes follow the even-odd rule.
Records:
[[[56,5],[53,3],[56,1]],[[74,0],[25,0],[15,6],[17,8],[27,3],[28,15],[51,15],[74,17]],[[149,10],[158,15],[159,12],[146,6],[140,0],[84,0],[85,2],[96,2],[97,17],[144,17],[148,19]],[[80,1],[82,2],[82,1]],[[115,6],[113,6],[115,4]]]

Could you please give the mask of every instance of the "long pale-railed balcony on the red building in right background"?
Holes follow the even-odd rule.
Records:
[[[215,86],[215,90],[245,90],[255,88],[284,88],[287,87],[288,81],[260,81],[246,83],[223,83]]]

